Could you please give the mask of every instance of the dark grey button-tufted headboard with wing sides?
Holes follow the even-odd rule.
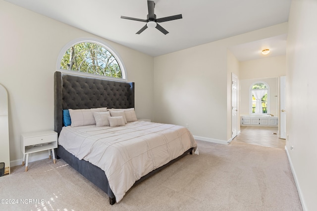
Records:
[[[54,73],[54,128],[63,127],[64,109],[134,108],[134,83]]]

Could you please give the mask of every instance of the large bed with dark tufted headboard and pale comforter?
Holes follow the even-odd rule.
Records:
[[[94,110],[94,115],[101,114],[99,112],[106,113],[99,109],[112,110],[113,114],[134,109],[134,83],[55,72],[54,128],[58,134],[57,158],[63,159],[103,190],[108,195],[111,205],[119,202],[133,185],[188,153],[192,154],[193,150],[195,153],[198,152],[191,133],[186,128],[175,125],[139,120],[127,122],[125,119],[124,124],[120,126],[112,125],[116,127],[98,126],[99,122],[96,122],[96,125],[65,126],[68,125],[65,123],[65,111],[91,109],[98,110]],[[120,118],[113,117],[113,120],[118,121]],[[112,121],[112,117],[108,120],[110,119]],[[122,123],[122,118],[120,121]],[[157,132],[154,133],[153,130]],[[157,136],[157,133],[163,135]],[[155,141],[148,139],[149,137]],[[100,150],[101,146],[106,147]],[[145,148],[148,151],[145,151]],[[102,152],[93,155],[93,151]],[[128,154],[132,156],[127,157]],[[148,157],[155,160],[148,161]],[[127,170],[123,169],[126,163],[132,164],[124,167]],[[118,165],[122,165],[123,170]],[[113,170],[114,168],[116,169]]]

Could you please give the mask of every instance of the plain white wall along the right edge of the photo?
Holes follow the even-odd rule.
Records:
[[[287,39],[286,149],[307,211],[317,210],[316,49],[317,1],[292,0]]]

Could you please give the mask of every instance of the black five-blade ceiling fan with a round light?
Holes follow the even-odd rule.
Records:
[[[162,23],[162,22],[166,22],[166,21],[171,21],[171,20],[176,20],[176,19],[183,18],[182,14],[179,14],[179,15],[173,15],[173,16],[168,16],[168,17],[158,18],[157,19],[156,14],[154,14],[154,7],[155,7],[154,1],[153,0],[148,0],[148,11],[149,11],[149,14],[147,15],[147,19],[146,20],[145,19],[139,19],[139,18],[126,17],[126,16],[121,16],[121,18],[128,19],[128,20],[134,20],[134,21],[146,22],[147,24],[136,33],[138,35],[141,34],[148,27],[157,28],[161,33],[166,35],[168,32],[163,27],[161,27],[158,23]]]

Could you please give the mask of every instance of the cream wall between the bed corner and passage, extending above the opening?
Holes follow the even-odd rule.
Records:
[[[198,139],[231,138],[228,47],[287,33],[287,23],[154,58],[154,121],[186,126]],[[230,76],[230,78],[228,78]]]

